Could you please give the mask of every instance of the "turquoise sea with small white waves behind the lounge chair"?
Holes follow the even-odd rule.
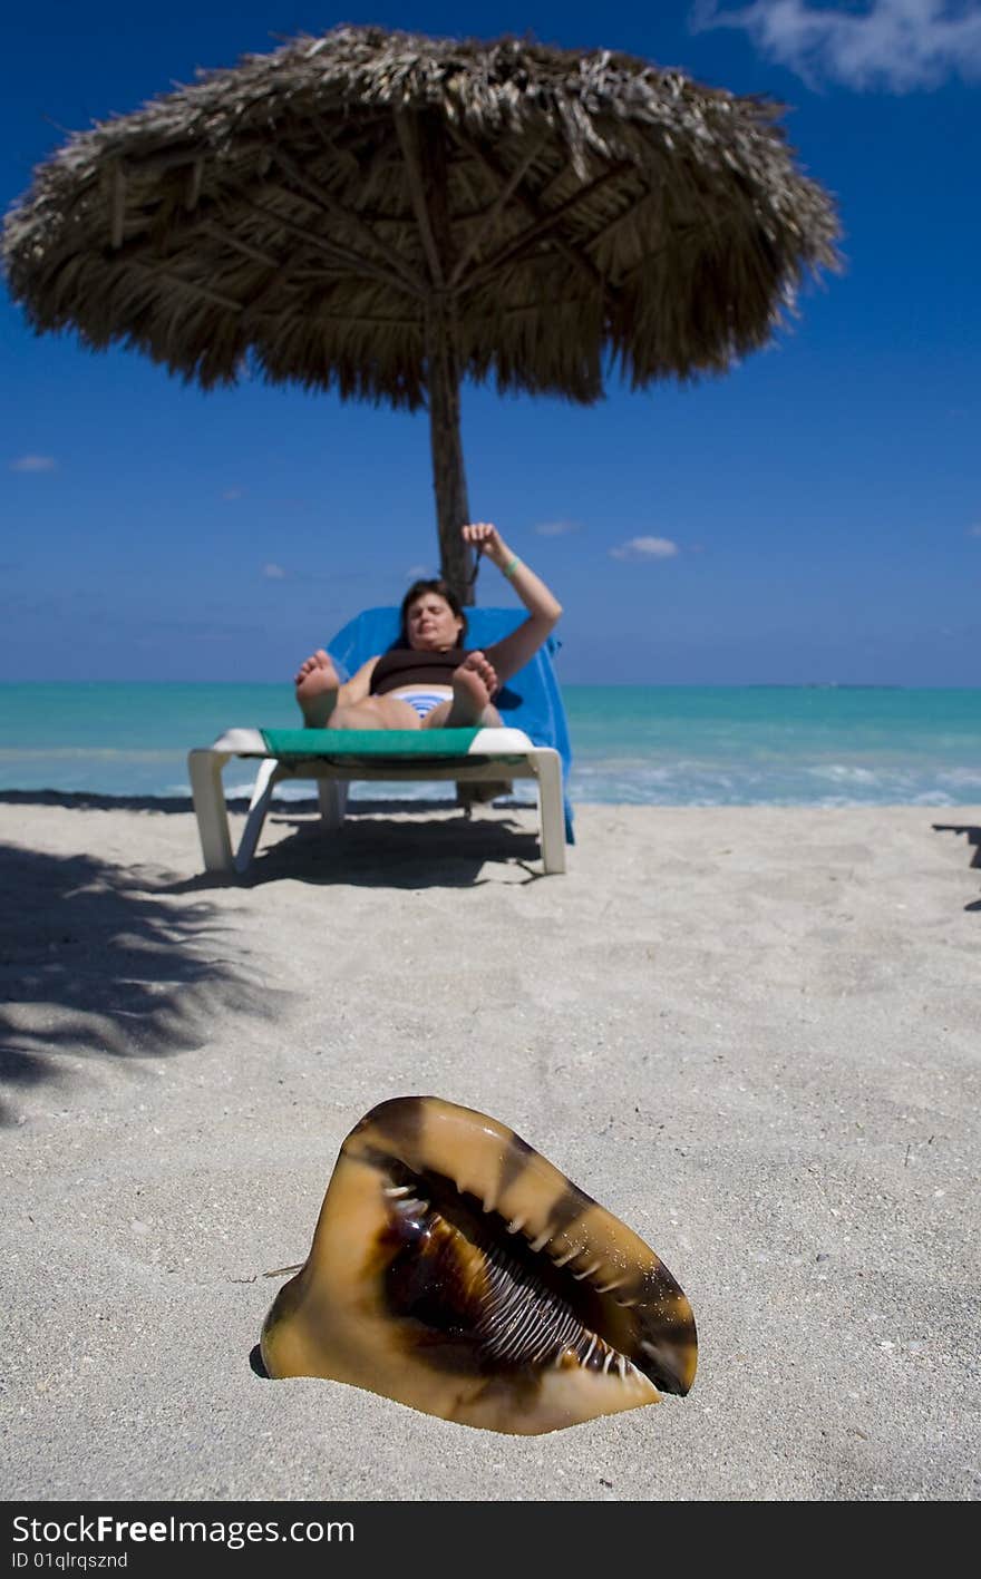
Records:
[[[562,695],[573,802],[981,804],[981,690],[566,685]],[[186,796],[188,748],[231,725],[294,726],[289,687],[0,685],[0,793]],[[226,783],[248,791],[248,764],[229,764]],[[284,797],[310,793],[283,788]],[[352,794],[378,799],[384,786]]]

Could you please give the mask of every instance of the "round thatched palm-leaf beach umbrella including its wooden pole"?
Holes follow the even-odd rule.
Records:
[[[627,55],[344,27],[77,133],[6,218],[38,332],[430,411],[469,581],[460,384],[591,403],[725,371],[836,264],[779,106]]]

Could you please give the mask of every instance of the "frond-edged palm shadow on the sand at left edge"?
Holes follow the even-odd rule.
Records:
[[[3,1093],[65,1090],[79,1061],[166,1058],[215,1015],[280,1012],[215,906],[164,895],[156,872],[0,845],[0,1123]]]

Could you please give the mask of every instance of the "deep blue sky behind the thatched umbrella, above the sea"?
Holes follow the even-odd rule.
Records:
[[[724,379],[468,385],[471,512],[566,605],[567,682],[981,685],[981,5],[47,0],[6,24],[0,197],[70,131],[299,32],[611,47],[790,106],[845,270]],[[0,292],[0,679],[289,682],[436,565],[425,412],[36,338]],[[513,595],[487,567],[479,600]]]

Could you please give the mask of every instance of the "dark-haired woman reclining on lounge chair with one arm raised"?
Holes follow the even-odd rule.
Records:
[[[491,561],[528,609],[528,619],[485,652],[468,652],[466,614],[444,581],[415,581],[401,603],[401,639],[341,684],[322,647],[295,676],[303,722],[314,729],[431,729],[499,725],[491,696],[539,651],[561,605],[504,543],[475,521],[463,540]]]

